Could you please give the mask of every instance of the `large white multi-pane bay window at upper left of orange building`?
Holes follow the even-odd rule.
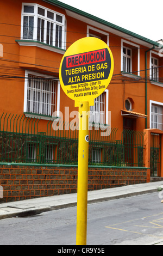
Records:
[[[65,15],[38,4],[22,4],[21,39],[65,49]]]

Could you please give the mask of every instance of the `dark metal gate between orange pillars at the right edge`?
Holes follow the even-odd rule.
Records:
[[[160,177],[161,173],[161,135],[151,133],[151,177]]]

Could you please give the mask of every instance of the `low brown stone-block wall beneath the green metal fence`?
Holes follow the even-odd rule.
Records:
[[[88,190],[147,182],[147,169],[89,168]],[[0,203],[77,192],[77,167],[0,166]]]

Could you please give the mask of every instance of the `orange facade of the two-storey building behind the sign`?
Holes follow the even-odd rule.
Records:
[[[115,128],[115,141],[121,141],[122,144],[129,135],[136,135],[136,142],[132,141],[132,143],[138,145],[139,139],[143,136],[141,144],[145,151],[144,159],[141,160],[143,164],[139,165],[136,162],[136,167],[148,168],[146,181],[150,181],[151,174],[155,177],[163,176],[162,41],[154,42],[57,0],[29,2],[9,0],[2,1],[0,7],[1,131],[12,132],[12,136],[13,133],[28,133],[28,135],[37,133],[39,136],[44,133],[48,136],[48,129],[52,132],[52,123],[56,118],[60,118],[63,122],[74,118],[73,111],[78,111],[78,108],[74,107],[74,102],[67,97],[60,86],[59,66],[67,48],[73,42],[94,36],[105,41],[110,47],[115,66],[110,84],[95,100],[95,106],[90,109],[90,127],[95,129],[96,124],[107,126],[111,121],[110,136],[114,137]],[[71,129],[66,129],[66,121],[64,129],[68,132]],[[148,131],[154,129],[150,130],[150,140],[147,135],[146,139],[144,138],[146,129]],[[155,142],[151,144],[153,139],[151,136],[158,141],[156,145]],[[66,135],[64,134],[63,137],[66,138]],[[134,140],[134,137],[132,139]],[[147,146],[149,141],[150,145]],[[7,138],[2,138],[2,144],[6,143]],[[13,156],[20,147],[14,148],[13,143],[9,144]],[[37,154],[41,156],[41,153],[38,153],[39,148],[32,147],[31,142],[26,142],[26,151],[28,151],[26,161],[22,159],[18,161],[16,157],[12,159],[10,153],[7,153],[8,148],[2,149],[1,156],[5,155],[5,157],[2,156],[1,163],[41,163],[29,161],[32,154],[34,158]],[[44,157],[47,159],[49,154],[51,160],[57,159],[58,147],[56,142],[52,147],[48,146]],[[123,150],[124,148],[123,145]],[[133,146],[130,151],[135,151]],[[104,158],[102,146],[98,147],[98,143],[96,147],[92,146],[91,153],[95,165]],[[24,151],[22,154],[25,154]],[[139,162],[141,154],[140,149],[136,161]],[[121,153],[120,155],[122,156]],[[120,155],[116,157],[121,158]],[[118,163],[120,162],[121,159]],[[64,160],[60,162],[60,164],[65,163],[67,162]],[[135,161],[130,167],[133,168],[134,163]],[[153,170],[151,163],[155,166]],[[113,165],[116,166],[111,164]],[[129,165],[123,163],[118,166],[122,168]]]

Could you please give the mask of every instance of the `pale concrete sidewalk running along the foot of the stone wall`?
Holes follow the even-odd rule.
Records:
[[[107,200],[157,192],[159,191],[159,188],[163,188],[163,181],[108,188],[105,190],[89,191],[88,203],[103,202]],[[67,208],[76,205],[77,193],[2,203],[0,204],[0,220],[11,217],[31,216],[40,214],[41,212]]]

